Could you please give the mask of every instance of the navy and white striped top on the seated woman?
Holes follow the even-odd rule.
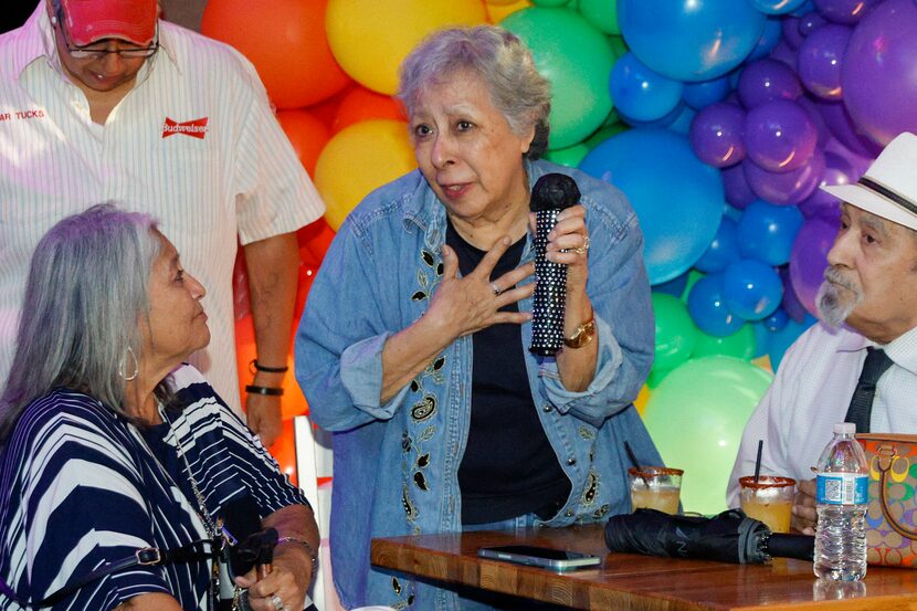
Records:
[[[38,600],[139,547],[176,548],[205,537],[185,462],[211,516],[250,497],[264,518],[306,504],[277,463],[200,372],[172,373],[180,413],[141,433],[86,394],[57,389],[23,412],[0,454],[0,578]],[[144,440],[162,435],[156,457]],[[171,455],[169,455],[171,453]],[[113,609],[165,592],[204,609],[209,562],[135,567],[103,578],[54,609]],[[21,609],[0,596],[0,609]]]

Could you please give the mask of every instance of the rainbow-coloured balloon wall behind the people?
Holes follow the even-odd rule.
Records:
[[[637,398],[684,505],[713,513],[748,414],[813,324],[855,181],[917,131],[914,0],[210,0],[202,32],[255,65],[328,204],[299,231],[296,314],[335,231],[415,167],[397,69],[447,24],[500,23],[555,92],[547,157],[621,188],[646,238],[656,360]],[[240,375],[253,350],[235,272]],[[308,407],[293,380],[285,419]],[[289,429],[287,422],[287,429]],[[677,434],[676,434],[677,433]],[[293,473],[292,434],[272,451]],[[703,460],[698,459],[703,456]]]

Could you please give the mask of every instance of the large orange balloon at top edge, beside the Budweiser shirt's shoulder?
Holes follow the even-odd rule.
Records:
[[[334,95],[350,82],[328,45],[327,4],[327,0],[210,0],[201,32],[245,55],[277,108],[298,108]]]

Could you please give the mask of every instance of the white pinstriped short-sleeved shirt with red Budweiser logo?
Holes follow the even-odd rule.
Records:
[[[113,201],[157,218],[207,288],[212,339],[192,361],[239,408],[238,243],[295,231],[324,204],[251,63],[165,21],[159,39],[103,126],[62,72],[44,2],[0,36],[0,384],[35,244],[62,218]]]

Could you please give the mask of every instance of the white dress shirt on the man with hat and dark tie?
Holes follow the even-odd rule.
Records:
[[[758,440],[763,440],[761,473],[801,482],[843,422],[866,359],[876,346],[862,335],[819,323],[787,351],[777,377],[751,414],[729,476],[727,503],[738,507],[738,480],[753,475]],[[917,328],[879,346],[892,359],[876,384],[872,432],[917,433]]]

